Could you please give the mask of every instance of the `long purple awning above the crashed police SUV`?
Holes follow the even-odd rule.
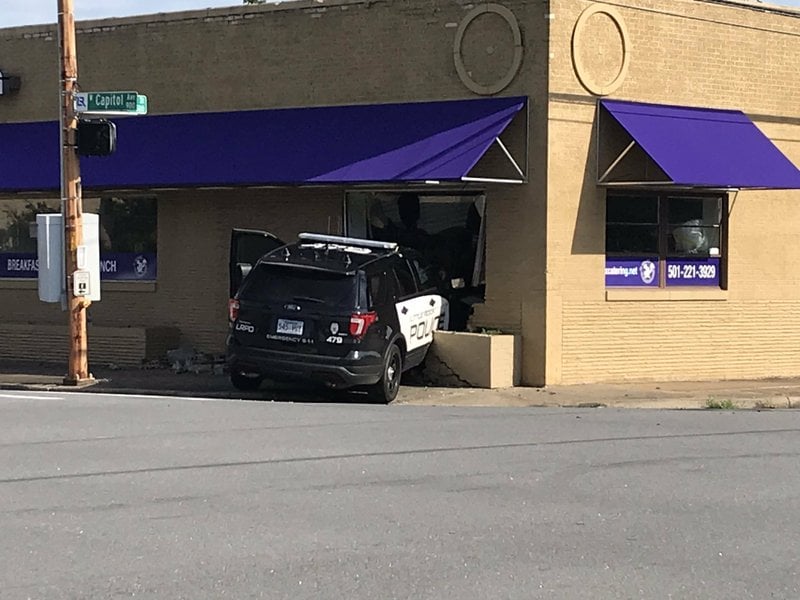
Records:
[[[114,119],[117,151],[82,157],[86,188],[461,180],[524,97]],[[0,191],[60,187],[58,124],[0,125]]]

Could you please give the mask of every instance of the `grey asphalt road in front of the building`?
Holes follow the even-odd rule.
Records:
[[[0,392],[0,598],[800,597],[800,412]]]

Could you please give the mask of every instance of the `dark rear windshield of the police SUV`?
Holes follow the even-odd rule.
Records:
[[[313,302],[348,310],[356,306],[357,297],[352,275],[265,264],[250,273],[239,291],[239,299],[248,302]]]

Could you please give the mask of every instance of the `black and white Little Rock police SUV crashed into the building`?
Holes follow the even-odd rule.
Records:
[[[391,402],[401,374],[423,361],[433,332],[447,328],[448,302],[413,250],[313,233],[280,245],[263,232],[239,232],[227,342],[237,389],[257,389],[265,378],[300,379]],[[239,261],[248,249],[258,252],[258,236],[274,249],[250,268]]]

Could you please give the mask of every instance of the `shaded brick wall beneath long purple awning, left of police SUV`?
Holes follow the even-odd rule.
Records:
[[[177,327],[185,344],[203,352],[223,352],[231,229],[266,229],[286,240],[306,230],[330,228],[338,233],[343,195],[343,190],[333,188],[158,194],[158,281],[154,286],[103,284],[102,299],[89,310],[92,360],[124,362],[106,338],[123,335],[114,329],[130,327]],[[63,324],[66,335],[60,306],[39,302],[35,282],[4,281],[0,299],[0,358],[52,359],[52,352],[42,355],[37,349],[53,346],[52,335],[41,334],[43,326]],[[12,330],[9,324],[25,324],[28,329]],[[93,341],[92,328],[98,328],[102,340]],[[137,335],[141,343],[130,348],[143,358],[144,331]]]

